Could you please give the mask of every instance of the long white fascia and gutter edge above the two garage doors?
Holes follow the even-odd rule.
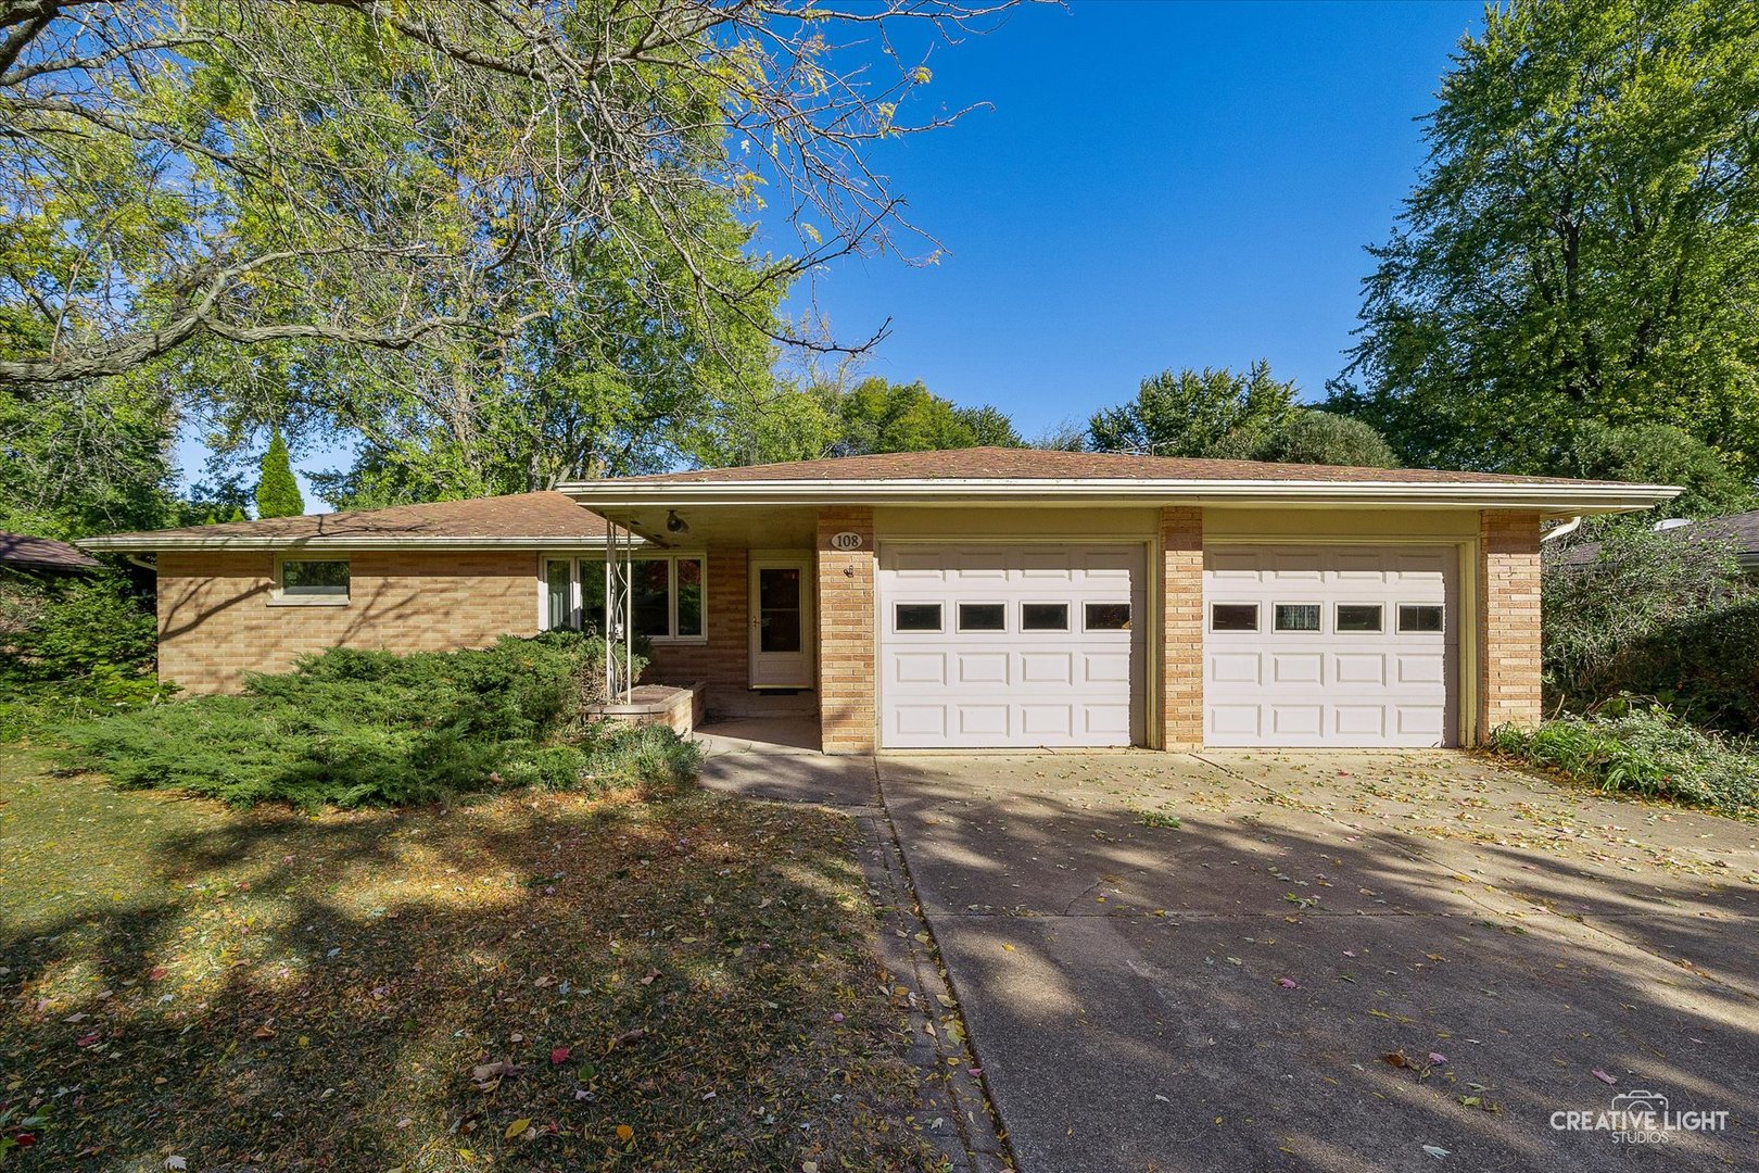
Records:
[[[1395,480],[684,480],[558,487],[593,510],[686,505],[1376,505],[1427,508],[1536,508],[1578,514],[1645,510],[1676,485],[1462,484]]]

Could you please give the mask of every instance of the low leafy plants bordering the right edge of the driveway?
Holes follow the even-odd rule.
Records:
[[[1608,709],[1617,710],[1618,705]],[[1502,726],[1492,733],[1490,744],[1499,753],[1606,791],[1668,798],[1720,814],[1759,816],[1759,754],[1754,744],[1683,725],[1659,705],[1566,716],[1536,730]]]

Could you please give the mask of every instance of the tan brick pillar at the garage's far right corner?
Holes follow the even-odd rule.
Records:
[[[1478,535],[1478,737],[1534,725],[1539,696],[1539,514],[1485,510]]]

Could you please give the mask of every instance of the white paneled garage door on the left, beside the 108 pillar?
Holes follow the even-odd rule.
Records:
[[[880,549],[890,749],[1142,742],[1143,549]]]

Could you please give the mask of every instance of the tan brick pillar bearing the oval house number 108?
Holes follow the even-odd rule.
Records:
[[[862,535],[834,550],[830,535]],[[874,512],[818,510],[818,721],[825,753],[874,749]]]

